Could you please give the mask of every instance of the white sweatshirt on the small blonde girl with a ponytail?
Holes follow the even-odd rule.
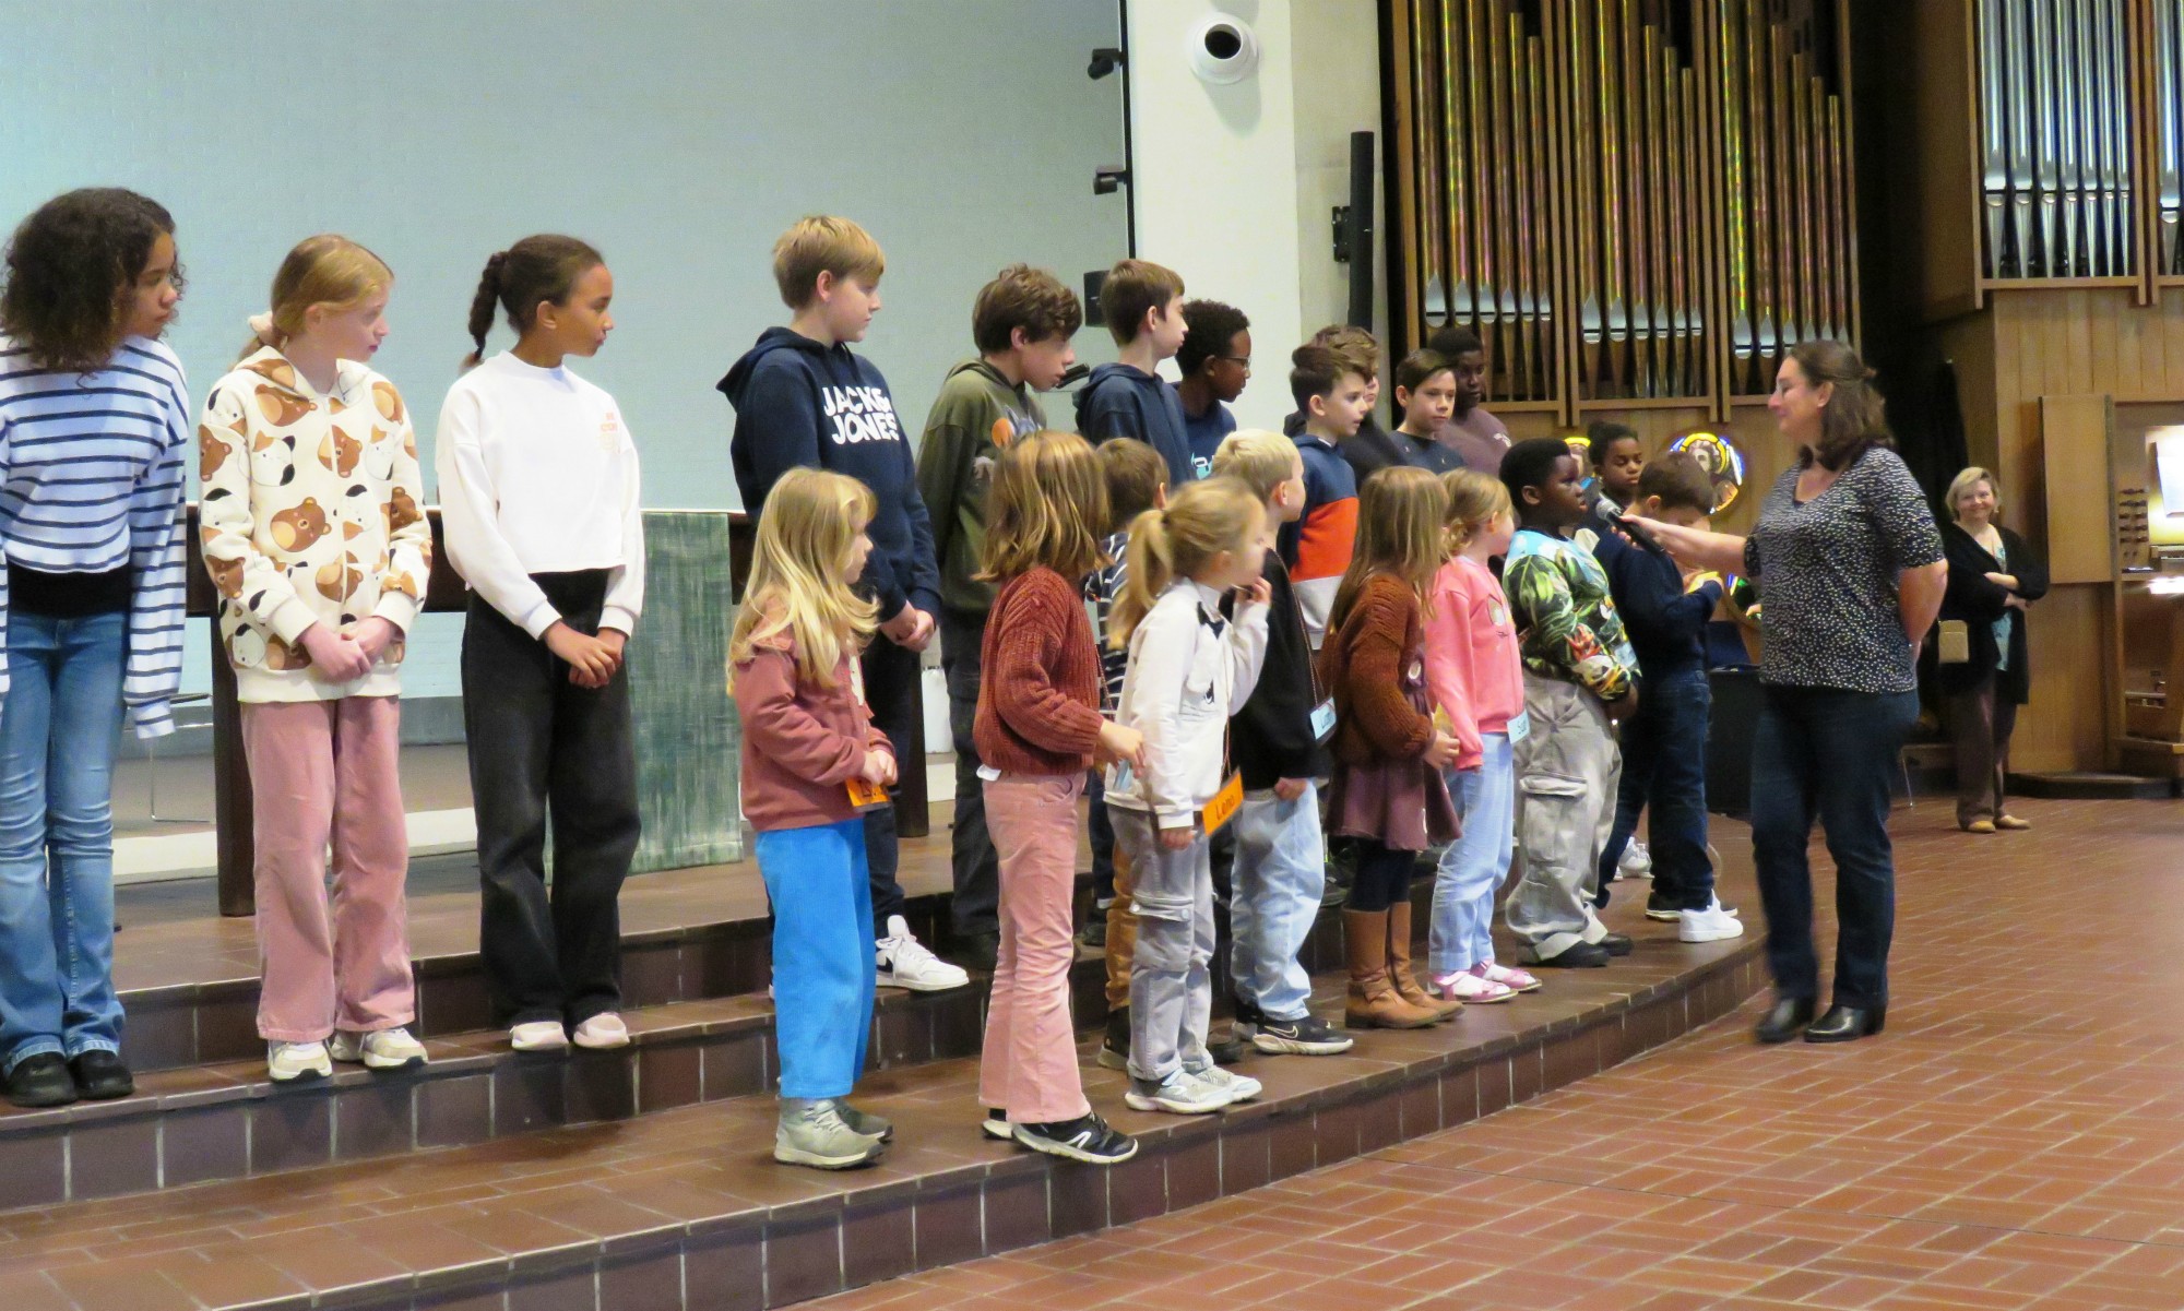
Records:
[[[1188,828],[1221,791],[1227,721],[1267,660],[1267,607],[1221,621],[1221,592],[1177,579],[1129,634],[1116,723],[1144,734],[1144,773],[1107,769],[1107,800]]]

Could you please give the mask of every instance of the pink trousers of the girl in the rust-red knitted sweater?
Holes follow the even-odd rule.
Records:
[[[1070,1025],[1077,957],[1070,900],[1083,787],[1083,773],[1011,773],[985,784],[985,826],[1000,857],[1000,953],[985,1007],[978,1101],[1020,1125],[1072,1121],[1092,1110]]]

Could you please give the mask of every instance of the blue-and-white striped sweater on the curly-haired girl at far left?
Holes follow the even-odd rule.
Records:
[[[39,572],[131,575],[122,704],[138,736],[175,732],[181,682],[181,361],[131,336],[96,374],[55,374],[0,336],[0,551]],[[7,570],[0,570],[0,695]]]

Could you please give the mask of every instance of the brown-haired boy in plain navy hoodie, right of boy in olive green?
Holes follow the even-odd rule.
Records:
[[[1168,461],[1168,485],[1182,487],[1197,476],[1184,406],[1153,369],[1184,345],[1184,280],[1149,260],[1123,260],[1107,269],[1099,304],[1120,358],[1092,369],[1077,393],[1077,430],[1088,441],[1144,441]]]

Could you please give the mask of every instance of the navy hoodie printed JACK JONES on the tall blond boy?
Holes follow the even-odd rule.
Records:
[[[917,496],[917,457],[887,393],[887,378],[847,345],[821,345],[791,328],[767,328],[727,378],[736,406],[727,444],[743,509],[758,513],[773,483],[795,468],[850,474],[878,503],[865,533],[865,588],[887,623],[904,605],[939,616],[941,572],[933,520]]]

